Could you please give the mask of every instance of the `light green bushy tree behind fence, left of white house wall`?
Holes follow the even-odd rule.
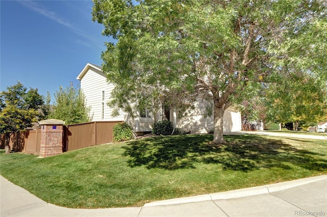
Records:
[[[90,108],[85,104],[84,94],[80,88],[75,89],[71,83],[66,89],[60,86],[59,91],[56,91],[50,117],[63,120],[66,124],[85,123],[90,121],[89,111]]]

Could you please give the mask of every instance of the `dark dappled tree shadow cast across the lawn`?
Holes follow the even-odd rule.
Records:
[[[301,150],[257,135],[226,135],[226,145],[211,145],[212,135],[174,135],[127,143],[124,156],[130,167],[146,166],[175,170],[195,168],[195,162],[221,164],[226,170],[250,171],[260,168],[326,170],[323,154]]]

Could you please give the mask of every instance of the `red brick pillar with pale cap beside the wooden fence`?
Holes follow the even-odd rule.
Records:
[[[62,153],[62,120],[49,119],[39,122],[41,126],[40,157],[55,156]]]

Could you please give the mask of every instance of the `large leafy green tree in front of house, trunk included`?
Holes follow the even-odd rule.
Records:
[[[111,104],[132,112],[149,98],[177,106],[203,97],[213,102],[214,143],[224,143],[225,109],[268,75],[289,64],[312,76],[326,69],[324,1],[93,2],[103,35],[117,40],[102,53]]]

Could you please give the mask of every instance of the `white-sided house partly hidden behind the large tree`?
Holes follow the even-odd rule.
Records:
[[[174,123],[174,127],[180,128],[181,131],[190,131],[192,133],[208,133],[213,130],[214,117],[207,117],[206,102],[198,99],[195,102],[195,109],[189,110],[188,115],[178,117],[178,112],[173,108],[165,110],[162,108],[157,114],[138,115],[139,117],[132,120],[128,114],[120,112],[117,117],[112,117],[113,109],[107,106],[110,99],[110,93],[114,85],[107,83],[106,74],[102,72],[102,67],[87,63],[77,76],[80,80],[81,90],[86,99],[86,105],[90,106],[90,117],[92,121],[125,121],[134,127],[137,134],[152,131],[152,125],[155,120],[168,119]],[[229,107],[224,113],[224,132],[240,131],[241,113],[235,107]]]

